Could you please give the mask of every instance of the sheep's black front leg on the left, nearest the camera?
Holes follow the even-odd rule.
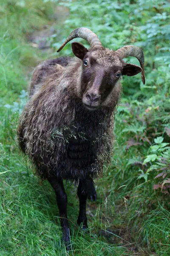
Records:
[[[67,195],[65,193],[64,185],[62,179],[57,179],[55,176],[48,177],[48,181],[56,193],[59,216],[61,218],[60,221],[62,226],[63,239],[65,242],[68,242],[70,241],[70,236],[67,219]]]

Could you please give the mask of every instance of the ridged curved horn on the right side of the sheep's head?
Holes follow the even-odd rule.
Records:
[[[143,54],[142,49],[137,46],[134,46],[134,45],[127,45],[127,46],[124,46],[124,47],[118,49],[115,53],[117,53],[121,59],[126,58],[128,56],[133,56],[139,60],[140,65],[142,67],[141,78],[142,78],[143,84],[145,84],[144,54]]]

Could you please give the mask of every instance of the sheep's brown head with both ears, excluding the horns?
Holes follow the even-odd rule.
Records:
[[[126,64],[109,49],[88,51],[82,44],[72,43],[72,50],[82,59],[81,96],[88,110],[107,105],[122,75],[134,76],[142,70],[139,66]]]

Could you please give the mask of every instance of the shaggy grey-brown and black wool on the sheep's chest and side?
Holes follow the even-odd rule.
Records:
[[[121,89],[115,91],[111,106],[88,111],[77,96],[76,65],[79,68],[76,62],[59,78],[47,80],[21,117],[20,146],[42,178],[56,175],[78,180],[99,174],[112,155],[114,113]]]

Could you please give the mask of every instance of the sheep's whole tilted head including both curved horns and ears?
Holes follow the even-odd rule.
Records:
[[[102,47],[99,38],[90,29],[77,28],[71,32],[57,52],[77,37],[87,40],[91,45],[91,48],[87,49],[80,43],[72,43],[74,55],[82,60],[80,95],[85,108],[95,110],[111,102],[111,97],[114,91],[116,93],[116,87],[119,87],[119,80],[123,75],[135,76],[142,72],[142,82],[145,83],[142,49],[128,45],[113,51]],[[123,58],[128,56],[136,57],[141,67],[125,63]]]

